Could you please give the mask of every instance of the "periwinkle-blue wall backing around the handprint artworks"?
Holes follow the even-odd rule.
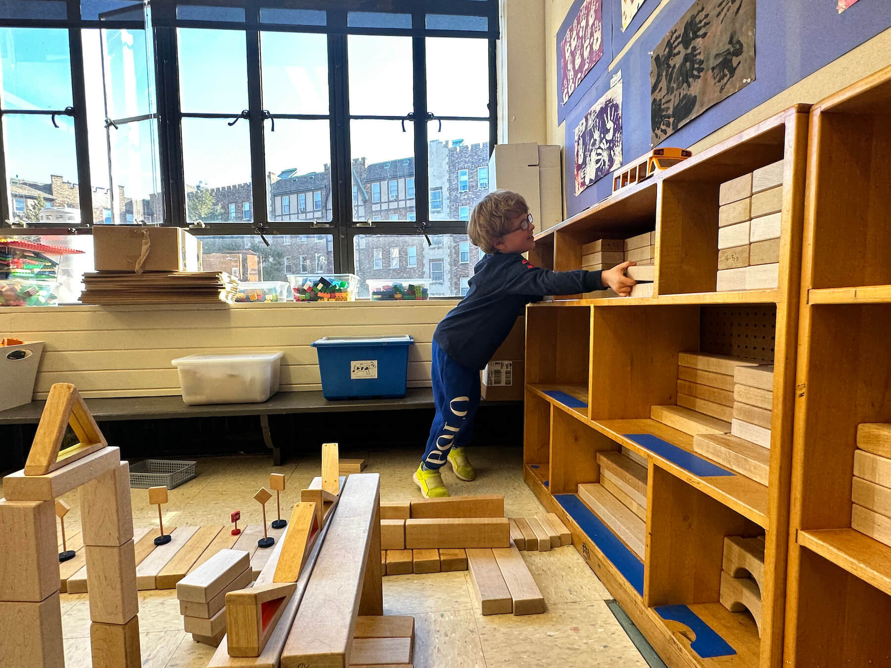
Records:
[[[604,1],[619,4],[619,0]],[[642,5],[641,12],[649,2]],[[569,104],[575,106],[565,115],[566,150],[563,151],[567,216],[575,216],[604,200],[612,191],[611,175],[606,175],[576,197],[574,130],[585,112],[609,90],[610,78],[618,70],[622,71],[623,162],[627,164],[654,148],[650,145],[650,52],[692,4],[691,0],[672,0],[666,4],[615,68],[609,71],[599,69],[602,60],[606,59],[604,54],[601,62],[570,96],[567,107]],[[619,21],[617,30],[621,34],[621,16],[613,13]],[[632,27],[637,20],[639,17],[635,16]],[[759,0],[756,4],[755,81],[718,102],[658,145],[687,148],[699,142],[889,27],[891,2],[888,0],[859,0],[841,14],[836,10],[835,0]],[[616,27],[614,35],[615,31]],[[558,44],[559,40],[558,34]],[[599,74],[592,77],[595,71]]]

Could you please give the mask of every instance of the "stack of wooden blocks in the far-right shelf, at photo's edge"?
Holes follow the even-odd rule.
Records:
[[[891,546],[891,424],[857,426],[851,528]]]

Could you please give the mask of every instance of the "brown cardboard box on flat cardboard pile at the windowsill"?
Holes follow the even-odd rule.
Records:
[[[148,240],[143,272],[200,272],[201,242],[181,227],[94,225],[97,272],[135,272]]]

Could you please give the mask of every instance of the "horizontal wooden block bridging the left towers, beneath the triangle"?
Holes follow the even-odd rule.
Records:
[[[8,501],[54,501],[119,465],[120,449],[110,445],[45,476],[11,473],[3,479],[3,493]]]

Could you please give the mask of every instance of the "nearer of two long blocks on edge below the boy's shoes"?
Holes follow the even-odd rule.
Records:
[[[550,541],[550,539],[549,539]],[[511,544],[507,517],[405,520],[405,549],[503,548]]]

